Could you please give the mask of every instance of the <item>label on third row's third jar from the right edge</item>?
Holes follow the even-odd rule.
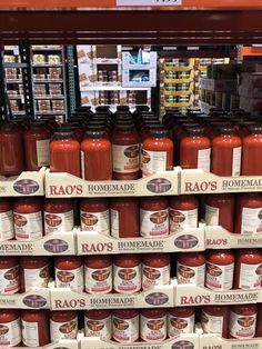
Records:
[[[204,286],[205,265],[199,267],[188,267],[177,262],[178,283],[192,283],[195,286]]]

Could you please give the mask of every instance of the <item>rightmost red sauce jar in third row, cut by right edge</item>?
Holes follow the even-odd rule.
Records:
[[[262,251],[258,249],[236,250],[234,271],[235,289],[260,289],[262,286]]]

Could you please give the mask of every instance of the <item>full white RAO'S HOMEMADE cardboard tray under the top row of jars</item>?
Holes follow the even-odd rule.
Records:
[[[87,181],[69,173],[46,172],[48,198],[175,196],[179,171],[163,171],[137,180]]]

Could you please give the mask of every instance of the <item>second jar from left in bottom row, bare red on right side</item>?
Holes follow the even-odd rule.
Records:
[[[48,310],[22,310],[21,319],[24,347],[42,347],[49,343]]]

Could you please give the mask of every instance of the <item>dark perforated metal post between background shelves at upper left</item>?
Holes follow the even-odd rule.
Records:
[[[28,44],[27,40],[23,39],[19,42],[19,50],[21,56],[21,63],[24,64],[22,66],[22,82],[26,116],[31,120],[34,120],[36,113],[32,83],[32,66],[30,57],[30,46]]]

